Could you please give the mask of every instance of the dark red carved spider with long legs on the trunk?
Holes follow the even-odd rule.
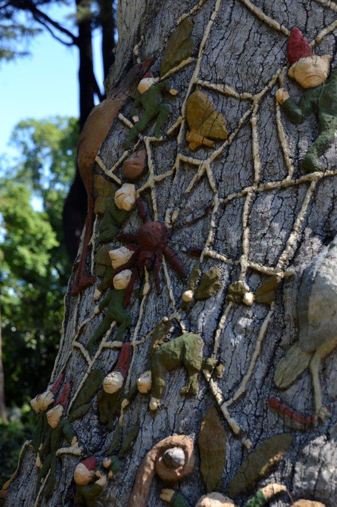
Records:
[[[144,225],[140,227],[138,234],[127,232],[117,236],[117,239],[119,240],[128,242],[132,241],[139,244],[139,247],[135,250],[129,261],[116,269],[117,274],[124,269],[133,268],[130,282],[125,290],[124,306],[129,305],[137,276],[141,273],[144,267],[148,270],[153,269],[156,289],[158,293],[160,292],[160,268],[162,255],[164,255],[165,259],[183,278],[186,277],[184,266],[176,256],[175,252],[167,246],[167,227],[161,222],[150,222],[147,217],[143,201],[141,199],[137,199],[136,203]]]

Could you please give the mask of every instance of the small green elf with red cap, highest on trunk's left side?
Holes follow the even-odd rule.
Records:
[[[161,93],[168,92],[171,95],[177,95],[177,90],[171,88],[171,83],[167,79],[155,84],[153,75],[148,72],[139,82],[135,100],[132,105],[130,115],[136,124],[130,129],[127,139],[124,142],[126,150],[130,148],[131,141],[135,139],[140,132],[143,132],[151,120],[156,118],[154,127],[154,136],[159,137],[160,130],[171,113],[171,107],[168,104],[161,103]],[[137,106],[143,107],[143,115],[140,119],[137,116]]]

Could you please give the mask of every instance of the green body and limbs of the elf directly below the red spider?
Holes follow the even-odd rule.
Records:
[[[93,353],[95,343],[110,329],[112,322],[115,320],[119,324],[118,331],[115,335],[115,341],[121,342],[124,331],[131,325],[132,319],[124,308],[125,289],[117,291],[115,288],[102,299],[100,304],[96,306],[94,313],[98,315],[106,306],[106,314],[95,331],[94,336],[89,340],[87,348],[90,354]]]

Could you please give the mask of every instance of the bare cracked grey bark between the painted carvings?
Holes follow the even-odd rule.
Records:
[[[188,13],[196,0],[125,0],[118,3],[118,44],[115,64],[108,77],[106,88],[110,90],[118,83],[137,56],[133,48],[144,35],[144,41],[139,46],[139,58],[144,60],[151,54],[158,54],[151,71],[157,75],[163,48],[167,37],[173,32],[180,16]],[[333,2],[330,3],[333,6]],[[255,0],[255,5],[269,18],[275,19],[283,27],[290,29],[298,26],[304,31],[309,40],[316,36],[336,19],[335,10],[328,7],[328,2],[285,0]],[[213,84],[228,85],[238,93],[249,92],[257,94],[269,83],[278,69],[287,65],[286,42],[287,36],[282,29],[274,29],[268,24],[268,19],[260,19],[259,14],[252,12],[249,3],[240,0],[206,0],[193,15],[194,56],[201,52],[198,64],[199,78]],[[207,26],[209,33],[203,39]],[[328,32],[321,42],[315,46],[315,51],[322,55],[330,53],[333,56],[331,67],[336,65],[335,33]],[[137,53],[137,52],[136,52]],[[173,125],[180,115],[189,90],[189,83],[195,69],[196,62],[192,62],[173,76],[173,87],[179,90],[177,98],[171,100],[172,114],[165,124],[165,130]],[[280,182],[287,177],[288,169],[285,164],[284,153],[279,141],[276,126],[275,90],[279,86],[277,80],[262,96],[257,110],[257,133],[260,149],[260,177],[259,184]],[[291,95],[298,99],[300,89],[285,78],[285,87]],[[209,88],[200,88],[212,98],[215,110],[223,113],[229,133],[235,132],[240,118],[251,107],[249,100],[235,98]],[[122,111],[129,118],[131,103]],[[285,458],[277,465],[268,478],[262,480],[257,487],[270,482],[285,484],[294,499],[307,498],[322,501],[327,507],[337,504],[337,452],[336,452],[336,423],[337,397],[336,390],[336,352],[332,352],[322,362],[320,379],[324,396],[324,405],[331,404],[330,418],[316,427],[299,431],[289,429],[277,414],[270,411],[267,401],[270,396],[280,396],[282,402],[303,414],[314,413],[314,401],[309,371],[306,370],[289,389],[278,391],[273,382],[275,367],[291,344],[298,339],[297,297],[301,276],[312,258],[324,250],[325,245],[335,234],[337,208],[335,195],[337,180],[333,173],[327,173],[316,180],[303,176],[299,168],[299,160],[303,158],[309,144],[315,139],[316,119],[312,115],[302,125],[293,125],[281,113],[281,121],[285,130],[288,144],[289,159],[293,164],[293,174],[287,185],[277,185],[275,188],[251,191],[247,200],[247,193],[240,192],[253,185],[257,170],[257,159],[252,156],[252,131],[250,124],[251,112],[243,121],[232,142],[223,150],[222,154],[212,162],[212,171],[220,199],[220,204],[213,214],[215,235],[210,247],[221,253],[229,261],[224,262],[205,256],[202,271],[212,266],[221,270],[222,288],[212,298],[198,301],[190,311],[181,312],[182,324],[186,330],[200,333],[204,346],[204,356],[213,352],[216,330],[219,327],[224,311],[227,307],[226,294],[230,283],[238,280],[240,275],[240,259],[243,236],[249,232],[248,260],[260,266],[274,268],[282,252],[286,249],[287,257],[283,271],[288,270],[289,276],[284,276],[280,287],[276,291],[275,307],[262,341],[252,375],[247,382],[245,392],[230,408],[231,417],[239,423],[242,433],[236,437],[224,419],[227,430],[226,466],[223,470],[221,491],[226,492],[230,479],[237,472],[242,460],[248,454],[243,445],[243,439],[248,438],[254,449],[259,443],[276,433],[290,431],[294,441]],[[185,130],[184,130],[185,131]],[[128,127],[115,120],[108,137],[100,150],[100,157],[110,168],[121,157],[123,142]],[[150,135],[151,129],[146,132]],[[216,143],[216,147],[221,143]],[[184,134],[180,145],[176,136],[164,138],[163,142],[151,143],[151,153],[155,174],[161,174],[171,169],[175,163],[177,152],[187,157],[199,160],[206,159],[211,151],[199,149],[192,153],[184,141]],[[336,144],[322,157],[324,167],[332,170],[335,166]],[[254,163],[255,162],[255,163]],[[98,167],[95,168],[98,171]],[[171,213],[177,209],[178,219],[172,227],[170,246],[178,253],[188,272],[195,263],[187,249],[190,246],[203,247],[210,230],[212,213],[201,214],[200,210],[212,204],[214,193],[210,188],[205,174],[201,175],[191,192],[184,193],[190,184],[198,166],[180,162],[175,176],[168,176],[156,185],[155,193],[158,205],[159,220],[165,220],[166,210]],[[122,170],[116,170],[116,176],[122,177]],[[144,184],[147,175],[141,184]],[[310,185],[314,186],[310,195]],[[312,187],[313,188],[313,187]],[[309,193],[308,193],[309,192]],[[226,198],[235,194],[232,199]],[[308,206],[305,199],[310,197]],[[152,209],[151,195],[142,195]],[[248,222],[243,223],[244,210],[248,211]],[[297,222],[299,216],[302,221]],[[123,231],[137,231],[140,226],[139,215],[134,210],[123,226]],[[294,241],[289,244],[288,239],[295,232]],[[119,245],[115,242],[111,247]],[[184,284],[168,267],[173,295],[177,306],[181,303],[182,293],[186,290]],[[64,340],[61,343],[60,354],[56,361],[55,376],[62,369],[71,350],[72,340],[81,322],[93,312],[95,303],[93,294],[95,286],[86,289],[79,298],[70,295],[73,276],[70,279],[70,290],[65,299]],[[162,293],[158,297],[154,289],[153,273],[150,273],[151,290],[144,303],[144,313],[138,322],[140,301],[133,299],[130,312],[133,317],[131,329],[125,333],[124,340],[132,340],[138,322],[137,339],[140,340],[150,333],[156,323],[165,315],[173,313],[173,303],[170,299],[164,274],[162,276]],[[245,278],[252,292],[265,280],[262,270],[248,269]],[[220,333],[218,360],[224,364],[224,373],[217,380],[224,400],[234,395],[244,375],[246,374],[252,355],[256,348],[261,326],[270,308],[266,305],[254,303],[251,307],[243,304],[233,304],[228,311],[227,320]],[[85,346],[93,335],[100,317],[90,321],[79,338]],[[174,338],[181,334],[177,320],[173,321],[173,331],[169,335]],[[113,334],[110,337],[113,340]],[[132,367],[131,384],[138,376],[148,369],[149,339],[136,347],[135,361]],[[104,349],[96,360],[95,368],[102,368],[106,373],[113,369],[118,351]],[[68,361],[65,373],[66,379],[72,382],[72,393],[75,392],[88,366],[85,358],[78,349],[74,349]],[[137,396],[126,410],[123,428],[140,426],[136,442],[125,458],[122,467],[115,478],[109,482],[102,495],[101,505],[122,507],[128,504],[137,470],[145,454],[161,439],[172,434],[188,434],[197,441],[200,423],[207,409],[217,405],[213,394],[205,379],[200,375],[200,392],[196,397],[182,398],[180,389],[186,381],[186,371],[178,369],[167,377],[166,388],[160,409],[152,413],[148,409],[148,397]],[[117,422],[117,419],[116,419]],[[84,455],[95,454],[104,457],[112,439],[109,433],[99,423],[96,399],[90,412],[73,423],[73,429],[83,447]],[[18,478],[13,481],[6,505],[13,507],[32,507],[34,504],[35,481],[37,469],[34,465],[35,453],[27,446],[23,453]],[[45,507],[72,505],[73,481],[72,474],[78,458],[64,455],[57,468],[58,483],[52,498],[46,503],[41,496],[38,505]],[[154,479],[147,505],[163,507],[159,499],[161,488],[167,487],[157,477]],[[171,485],[169,486],[171,487]],[[195,472],[181,484],[174,484],[175,490],[180,491],[194,506],[197,499],[204,494],[199,474],[199,458]],[[251,496],[236,499],[238,506],[244,505]],[[286,495],[270,502],[272,507],[287,507],[290,500]]]

